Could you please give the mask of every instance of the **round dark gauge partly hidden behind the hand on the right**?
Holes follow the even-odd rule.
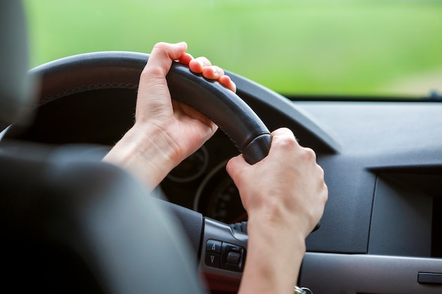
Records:
[[[246,221],[247,214],[242,206],[239,191],[225,171],[225,164],[226,162],[217,166],[205,178],[198,189],[194,209],[223,223]]]

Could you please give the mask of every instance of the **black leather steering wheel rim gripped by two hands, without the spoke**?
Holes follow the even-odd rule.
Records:
[[[102,51],[69,56],[30,71],[40,79],[40,105],[68,94],[109,88],[137,89],[149,54]],[[192,73],[174,62],[167,75],[173,99],[189,104],[214,121],[249,164],[270,148],[270,131],[253,110],[219,82]]]

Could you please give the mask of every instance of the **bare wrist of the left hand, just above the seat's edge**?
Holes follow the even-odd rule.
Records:
[[[150,191],[179,164],[179,154],[173,145],[173,140],[160,129],[136,124],[103,161],[126,169]]]

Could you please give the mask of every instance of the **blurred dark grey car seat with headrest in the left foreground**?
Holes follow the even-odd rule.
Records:
[[[32,103],[20,1],[0,1],[0,29],[3,130],[23,121]],[[61,160],[71,158],[69,152],[0,142],[3,288],[201,293],[185,241],[142,185],[100,161]]]

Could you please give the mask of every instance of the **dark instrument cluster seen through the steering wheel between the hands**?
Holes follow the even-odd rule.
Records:
[[[170,202],[211,219],[223,223],[246,221],[239,192],[225,170],[227,159],[236,154],[227,137],[216,133],[196,154],[169,173],[160,185],[161,192]],[[177,177],[183,173],[186,178]]]

